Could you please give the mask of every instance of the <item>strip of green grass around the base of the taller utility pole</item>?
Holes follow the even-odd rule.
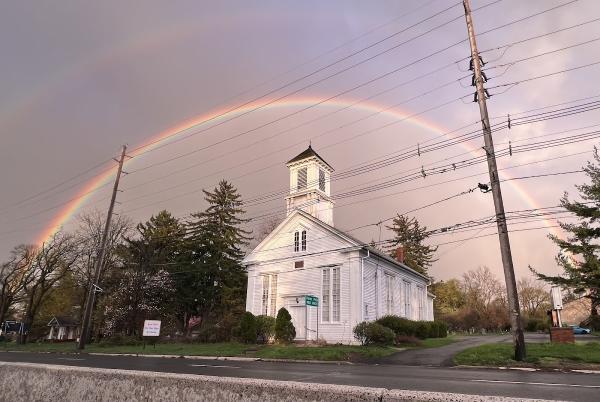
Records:
[[[525,362],[513,360],[513,346],[510,343],[481,345],[460,352],[454,357],[454,362],[473,366],[599,366],[600,343],[529,343]]]

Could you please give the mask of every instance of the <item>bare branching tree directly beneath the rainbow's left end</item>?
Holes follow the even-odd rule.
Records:
[[[25,328],[31,328],[44,298],[53,290],[71,269],[78,258],[77,245],[72,236],[62,232],[42,244],[35,252],[35,257],[25,272],[27,285],[23,291],[25,297]],[[27,333],[21,334],[20,343],[27,342]]]

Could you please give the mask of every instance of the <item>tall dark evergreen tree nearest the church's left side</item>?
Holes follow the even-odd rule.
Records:
[[[189,268],[178,278],[186,286],[180,295],[182,313],[188,322],[196,317],[199,325],[210,319],[233,325],[244,311],[246,271],[241,261],[250,232],[241,227],[247,222],[245,211],[231,183],[222,180],[204,195],[207,209],[192,214],[188,222]]]

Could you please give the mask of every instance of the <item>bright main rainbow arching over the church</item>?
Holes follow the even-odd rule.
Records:
[[[316,103],[322,102],[321,99],[318,98],[308,98],[308,97],[295,97],[289,98],[285,101],[278,101],[269,104],[261,108],[261,110],[272,110],[277,108],[287,108],[287,107],[306,107],[310,105],[314,105]],[[232,107],[224,107],[222,109],[212,110],[208,113],[204,113],[192,119],[186,120],[174,127],[171,127],[165,131],[162,131],[151,138],[149,138],[145,143],[135,148],[135,151],[130,153],[132,159],[127,160],[126,165],[130,165],[132,162],[136,161],[139,158],[136,156],[140,156],[143,153],[148,152],[154,148],[158,148],[163,146],[169,140],[177,140],[181,139],[186,134],[191,134],[194,129],[197,129],[199,126],[207,123],[207,122],[219,122],[228,118],[235,117],[236,115],[244,114],[246,112],[252,111],[253,109],[259,108],[261,106],[260,103],[251,103],[245,105],[244,107],[237,108],[235,110],[231,110]],[[397,120],[402,120],[414,124],[418,127],[424,128],[426,130],[432,131],[436,134],[443,134],[448,132],[449,130],[442,128],[441,126],[436,125],[426,119],[421,117],[410,117],[411,113],[407,113],[405,111],[399,110],[389,110],[389,107],[379,105],[377,103],[358,103],[353,99],[338,99],[327,101],[319,104],[319,107],[339,107],[339,108],[352,108],[356,110],[366,111],[370,113],[378,113],[381,116],[392,117]],[[453,138],[450,134],[445,134],[447,138]],[[467,143],[461,143],[461,146],[465,148],[468,152],[473,153],[474,155],[479,155],[477,151],[478,148],[472,147]],[[73,198],[73,201],[68,203],[65,207],[63,207],[51,220],[50,224],[46,226],[37,236],[36,242],[38,244],[43,243],[53,234],[55,234],[58,230],[61,229],[63,225],[65,225],[78,211],[79,209],[88,201],[88,199],[92,196],[96,189],[101,186],[104,186],[108,183],[111,178],[116,174],[116,167],[110,170],[107,170],[98,176],[91,179],[87,182],[77,193],[77,195]],[[503,172],[506,175],[505,172]],[[533,208],[539,207],[536,201],[530,196],[524,188],[522,188],[517,181],[511,181],[508,183],[517,194],[530,206]],[[558,231],[555,228],[551,228],[552,223],[545,220],[545,226],[558,235]]]

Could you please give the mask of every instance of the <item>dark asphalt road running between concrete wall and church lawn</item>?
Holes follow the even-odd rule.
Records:
[[[600,395],[597,374],[28,352],[0,352],[0,361],[572,401]]]

